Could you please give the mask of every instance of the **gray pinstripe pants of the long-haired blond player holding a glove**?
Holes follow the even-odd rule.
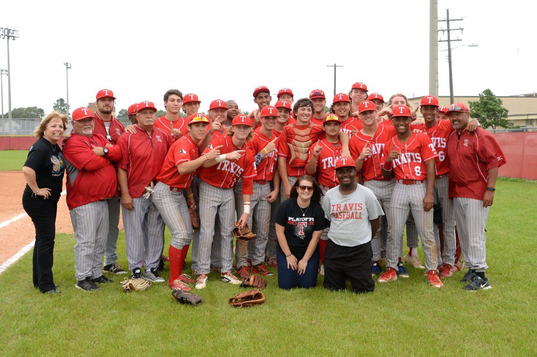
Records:
[[[231,249],[231,229],[235,220],[235,196],[233,188],[220,188],[200,182],[200,239],[198,247],[199,274],[209,274],[211,271],[211,246],[215,232],[215,217],[220,219],[220,234],[222,236],[220,250],[222,273],[231,271],[233,267],[233,249]]]

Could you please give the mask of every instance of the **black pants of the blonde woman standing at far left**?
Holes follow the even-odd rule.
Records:
[[[33,251],[33,283],[41,292],[53,290],[54,278],[54,237],[56,235],[57,202],[44,200],[42,196],[32,197],[25,191],[23,207],[32,218],[35,227],[35,245]]]

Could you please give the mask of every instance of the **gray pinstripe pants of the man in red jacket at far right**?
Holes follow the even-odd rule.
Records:
[[[481,200],[455,197],[453,211],[466,267],[476,272],[484,272],[489,267],[485,249],[485,225],[489,207],[483,207]]]

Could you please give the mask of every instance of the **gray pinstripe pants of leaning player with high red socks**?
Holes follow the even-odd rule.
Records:
[[[154,190],[151,200],[171,232],[170,244],[176,249],[183,249],[184,245],[190,245],[193,237],[192,221],[183,190],[170,191],[170,186],[160,181]]]

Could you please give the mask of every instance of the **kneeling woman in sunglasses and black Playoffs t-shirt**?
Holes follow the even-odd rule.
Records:
[[[317,283],[317,242],[326,227],[319,203],[322,191],[315,179],[303,175],[281,202],[274,216],[278,236],[278,285],[281,289],[313,288]]]

